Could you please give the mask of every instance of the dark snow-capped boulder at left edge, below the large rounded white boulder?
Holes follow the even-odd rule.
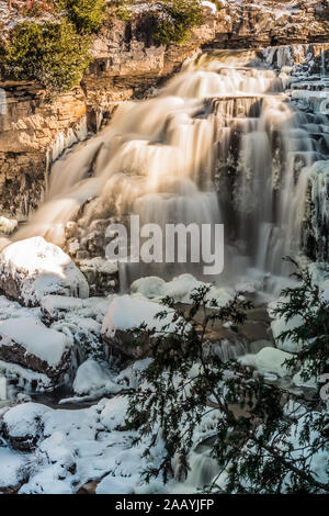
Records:
[[[70,368],[70,341],[34,317],[0,322],[0,360],[45,374],[56,386]]]

